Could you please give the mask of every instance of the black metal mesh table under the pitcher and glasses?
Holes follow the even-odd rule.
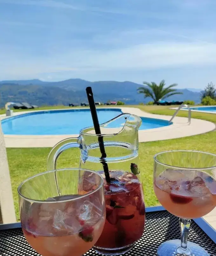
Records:
[[[158,246],[166,240],[180,239],[179,219],[163,207],[146,208],[145,232],[132,250],[125,256],[154,256]],[[216,231],[202,218],[191,223],[189,241],[201,245],[211,256],[216,256]],[[0,225],[0,255],[32,256],[39,255],[27,243],[20,223]],[[90,250],[85,256],[98,255]]]

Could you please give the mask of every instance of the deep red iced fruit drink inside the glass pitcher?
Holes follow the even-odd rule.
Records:
[[[110,171],[110,177],[111,184],[104,179],[105,226],[95,244],[100,252],[132,245],[141,238],[145,224],[144,195],[137,176],[131,172]]]

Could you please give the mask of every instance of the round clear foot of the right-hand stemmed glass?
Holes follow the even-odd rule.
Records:
[[[187,250],[182,251],[181,240],[169,240],[158,247],[158,256],[210,256],[201,246],[187,242]]]

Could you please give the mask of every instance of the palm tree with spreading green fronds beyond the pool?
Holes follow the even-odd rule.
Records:
[[[151,97],[154,103],[159,101],[159,99],[165,99],[175,94],[182,94],[182,92],[177,92],[176,89],[172,89],[178,84],[171,84],[165,88],[165,80],[162,80],[159,85],[154,82],[143,82],[143,84],[149,88],[145,86],[139,87],[137,89],[138,93],[144,93],[144,98]]]

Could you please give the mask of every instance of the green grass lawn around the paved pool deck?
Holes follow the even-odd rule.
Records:
[[[172,115],[174,113],[174,110],[170,110],[169,106],[135,107],[154,114]],[[178,116],[187,117],[187,114],[186,111],[180,111]],[[192,112],[192,118],[204,119],[216,123],[216,114]],[[152,188],[154,154],[164,150],[175,149],[202,150],[216,153],[215,142],[216,131],[179,139],[139,143],[141,179],[144,187],[146,206],[159,204]],[[46,170],[46,159],[49,151],[50,148],[7,149],[17,220],[19,220],[17,187],[24,179]],[[78,164],[78,149],[67,150],[62,153],[58,160],[58,168],[78,167]]]

